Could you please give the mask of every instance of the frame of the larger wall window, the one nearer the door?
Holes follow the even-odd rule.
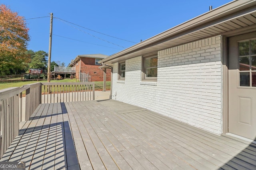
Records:
[[[156,77],[146,77],[146,73],[145,73],[145,60],[148,59],[148,58],[153,58],[153,57],[156,57],[158,59],[158,54],[154,53],[154,54],[150,54],[150,55],[146,55],[146,56],[142,56],[142,81],[148,81],[148,82],[156,82],[157,81],[157,75]],[[158,68],[158,61],[157,61],[157,64],[156,66],[151,66],[151,67],[146,67],[146,68]],[[156,73],[157,74],[157,73]]]

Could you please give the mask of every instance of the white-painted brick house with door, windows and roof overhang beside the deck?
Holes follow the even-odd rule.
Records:
[[[236,0],[102,59],[112,99],[256,137],[256,1]]]

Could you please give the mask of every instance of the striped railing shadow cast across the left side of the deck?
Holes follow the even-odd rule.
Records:
[[[64,103],[62,113],[40,116],[35,113],[36,124],[48,116],[68,113]],[[34,122],[34,123],[35,123]],[[30,122],[31,123],[31,122]],[[46,121],[44,121],[46,123]],[[0,161],[22,161],[26,169],[80,169],[69,121],[46,123],[22,128]]]

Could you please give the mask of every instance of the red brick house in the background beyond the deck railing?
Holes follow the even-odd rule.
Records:
[[[89,81],[103,81],[104,71],[99,68],[101,64],[99,64],[98,61],[105,59],[106,57],[108,56],[102,54],[78,55],[68,66],[76,68],[76,78],[83,79],[85,74],[89,74]],[[106,81],[110,80],[111,71],[106,70]]]

